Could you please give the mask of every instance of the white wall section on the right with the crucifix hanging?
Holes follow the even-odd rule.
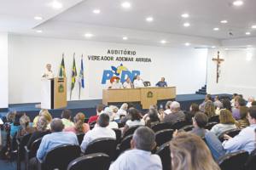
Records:
[[[210,94],[243,94],[256,97],[256,50],[229,49],[220,50],[220,56],[224,59],[221,64],[219,83],[216,84],[216,62],[212,57],[217,56],[218,49],[208,52],[207,68],[207,92]]]

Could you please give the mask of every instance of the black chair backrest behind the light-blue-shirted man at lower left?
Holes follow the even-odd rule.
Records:
[[[81,149],[75,144],[61,144],[49,152],[44,157],[43,169],[52,170],[58,168],[66,170],[70,161],[80,156]]]

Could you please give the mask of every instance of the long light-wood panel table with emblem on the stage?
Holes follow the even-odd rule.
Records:
[[[175,99],[176,87],[157,88],[118,88],[103,89],[102,102],[109,103],[141,102],[143,109],[148,109],[150,105],[156,105],[158,100]]]

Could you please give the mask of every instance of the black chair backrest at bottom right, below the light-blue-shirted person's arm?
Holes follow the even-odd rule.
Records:
[[[244,170],[248,156],[247,151],[239,150],[220,157],[218,159],[218,165],[221,170]]]

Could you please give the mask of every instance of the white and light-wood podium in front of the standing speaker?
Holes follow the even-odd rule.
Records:
[[[41,108],[59,109],[67,106],[67,80],[52,78],[42,80]]]

